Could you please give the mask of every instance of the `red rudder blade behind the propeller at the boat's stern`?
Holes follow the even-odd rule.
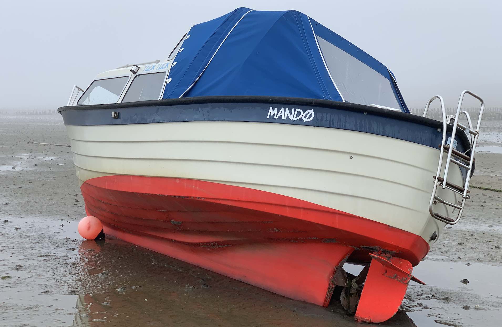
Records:
[[[410,261],[388,254],[369,254],[371,263],[355,312],[355,320],[383,322],[398,311],[410,280],[425,285],[412,276]]]

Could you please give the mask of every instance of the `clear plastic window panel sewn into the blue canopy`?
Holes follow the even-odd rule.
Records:
[[[317,42],[329,73],[345,101],[401,111],[387,78],[323,38],[317,36]]]

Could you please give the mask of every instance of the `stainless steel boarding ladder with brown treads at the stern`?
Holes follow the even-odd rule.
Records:
[[[471,95],[472,97],[479,100],[479,102],[481,103],[481,108],[479,110],[479,118],[477,120],[477,125],[476,125],[475,129],[472,128],[472,122],[471,122],[469,114],[466,111],[460,110],[462,108],[462,102],[463,102],[465,94]],[[460,99],[458,100],[458,107],[457,107],[457,112],[456,112],[455,116],[448,116],[448,118],[447,118],[445,108],[444,108],[443,98],[441,96],[434,96],[425,105],[423,117],[426,117],[427,112],[429,110],[429,106],[432,103],[432,101],[434,101],[435,99],[439,99],[439,101],[441,102],[441,111],[442,111],[442,116],[443,116],[443,140],[440,145],[440,155],[439,155],[439,163],[438,163],[437,173],[435,176],[433,176],[434,188],[432,189],[431,200],[429,201],[429,212],[430,212],[431,216],[433,216],[437,220],[440,220],[440,221],[447,223],[449,225],[454,225],[457,222],[459,222],[460,218],[462,217],[462,212],[463,212],[464,206],[465,206],[465,200],[470,199],[470,196],[467,194],[470,193],[469,181],[470,181],[470,177],[471,177],[472,164],[474,162],[474,151],[476,150],[476,143],[477,143],[477,139],[479,136],[479,128],[481,126],[481,116],[483,115],[484,102],[483,102],[483,99],[481,99],[479,96],[475,95],[474,93],[472,93],[468,90],[464,90],[460,94]],[[468,126],[462,125],[458,122],[458,118],[459,118],[460,114],[465,115],[465,117],[467,119]],[[447,143],[447,141],[446,141],[447,125],[446,124],[451,123],[451,120],[453,120],[453,130],[451,133],[451,138],[448,139],[448,143]],[[454,149],[455,148],[455,135],[456,135],[458,127],[460,129],[462,129],[470,137],[471,142],[470,142],[470,148],[469,148],[469,150],[470,150],[469,155],[466,154],[467,152],[469,152],[469,150],[467,150],[465,153],[462,153],[462,152]],[[441,168],[443,166],[443,153],[444,152],[446,152],[448,155],[447,155],[446,164],[444,167],[444,174],[441,177]],[[465,183],[464,183],[463,187],[448,181],[448,170],[450,167],[450,163],[453,163],[459,167],[465,168],[466,177],[465,177]],[[448,189],[456,194],[461,195],[462,201],[460,202],[460,204],[458,204],[458,202],[457,203],[448,202],[448,201],[440,198],[438,195],[436,195],[438,186],[441,186],[442,189]],[[434,212],[433,205],[436,203],[442,203],[447,206],[458,209],[457,216],[455,218],[452,218],[452,217],[445,216],[440,213]],[[453,209],[453,211],[455,211],[455,209]],[[453,214],[453,212],[452,212],[452,214]]]

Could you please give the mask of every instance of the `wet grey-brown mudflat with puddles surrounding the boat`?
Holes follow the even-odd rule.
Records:
[[[479,145],[502,146],[502,122],[485,125]],[[70,149],[28,141],[68,144],[61,117],[0,116],[0,326],[361,325],[337,301],[323,308],[117,239],[82,240]],[[502,154],[479,152],[471,184],[502,189],[501,178]],[[414,269],[427,285],[411,282],[381,325],[500,325],[502,193],[471,191]]]

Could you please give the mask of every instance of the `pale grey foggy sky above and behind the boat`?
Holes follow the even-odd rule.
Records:
[[[165,60],[192,24],[238,7],[307,14],[388,66],[411,108],[436,94],[455,107],[464,89],[502,106],[495,0],[47,0],[2,2],[0,108],[64,106],[74,84],[85,89],[100,72]]]

